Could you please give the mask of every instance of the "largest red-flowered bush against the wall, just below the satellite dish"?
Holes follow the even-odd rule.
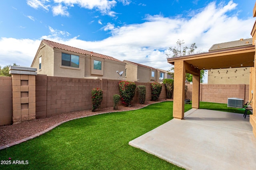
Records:
[[[136,84],[129,81],[120,81],[119,82],[119,91],[122,103],[125,106],[131,106],[132,98],[134,97],[136,89]]]

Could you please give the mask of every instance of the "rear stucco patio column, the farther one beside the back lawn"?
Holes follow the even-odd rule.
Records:
[[[192,79],[192,108],[199,108],[200,75],[193,75]]]

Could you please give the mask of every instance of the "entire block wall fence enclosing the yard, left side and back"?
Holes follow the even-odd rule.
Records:
[[[91,90],[104,90],[101,108],[113,107],[113,95],[119,94],[119,80],[99,80],[83,78],[35,76],[35,118],[46,118],[65,112],[92,109]],[[136,86],[146,86],[146,101],[151,100],[150,83],[135,82]],[[16,84],[17,85],[17,84]],[[22,84],[21,84],[22,85]],[[13,80],[12,77],[0,77],[0,125],[13,123]],[[192,84],[187,84],[185,98],[192,98]],[[200,101],[227,103],[228,98],[249,99],[249,85],[201,84]],[[160,99],[166,98],[166,88],[162,84]],[[138,92],[135,92],[132,103],[139,103]],[[120,102],[121,104],[121,102]],[[22,113],[22,112],[21,112]],[[22,115],[21,115],[22,116]],[[27,119],[25,119],[27,120]]]

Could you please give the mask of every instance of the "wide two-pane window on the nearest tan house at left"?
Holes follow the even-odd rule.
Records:
[[[79,68],[79,56],[62,53],[61,65]]]

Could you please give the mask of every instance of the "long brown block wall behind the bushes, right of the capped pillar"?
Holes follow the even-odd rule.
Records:
[[[36,118],[46,118],[70,111],[92,109],[92,89],[103,90],[101,108],[113,107],[113,95],[120,94],[120,80],[99,80],[83,78],[36,76]],[[146,86],[146,101],[151,100],[150,83],[138,83]],[[166,89],[162,84],[160,98],[166,98]],[[138,103],[138,94],[132,103]],[[121,102],[120,102],[121,104]]]

